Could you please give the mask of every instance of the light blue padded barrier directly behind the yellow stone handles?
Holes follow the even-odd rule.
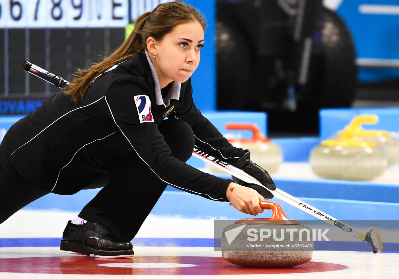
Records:
[[[326,140],[344,129],[358,115],[377,115],[378,123],[363,125],[365,130],[385,130],[399,137],[399,107],[322,109],[320,114],[320,140]]]

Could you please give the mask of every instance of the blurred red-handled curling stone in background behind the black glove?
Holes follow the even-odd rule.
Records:
[[[227,130],[250,130],[253,133],[250,139],[228,139],[229,142],[237,147],[251,150],[251,161],[257,163],[269,174],[276,173],[282,162],[282,152],[277,144],[270,141],[259,130],[259,127],[251,123],[228,123],[225,125]],[[211,173],[224,173],[223,170],[207,164],[207,169]]]

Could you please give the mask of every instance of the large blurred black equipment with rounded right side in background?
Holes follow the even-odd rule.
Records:
[[[218,109],[316,131],[320,108],[351,105],[355,59],[346,24],[322,0],[217,1]]]

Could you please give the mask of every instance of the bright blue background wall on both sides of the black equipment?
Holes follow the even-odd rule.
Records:
[[[216,109],[216,1],[185,0],[205,15],[205,47],[192,76],[194,101],[201,111]],[[358,58],[399,59],[399,15],[362,14],[361,4],[399,5],[398,0],[344,0],[336,12],[352,33]],[[399,79],[399,69],[359,67],[361,82]]]

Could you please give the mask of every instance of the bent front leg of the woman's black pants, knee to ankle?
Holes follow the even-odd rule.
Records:
[[[170,119],[163,121],[158,129],[173,156],[186,162],[195,142],[191,127],[184,121]],[[79,217],[105,224],[118,239],[130,241],[164,192],[166,183],[135,154],[122,158],[109,174],[105,175],[110,177],[106,186],[83,208]]]

